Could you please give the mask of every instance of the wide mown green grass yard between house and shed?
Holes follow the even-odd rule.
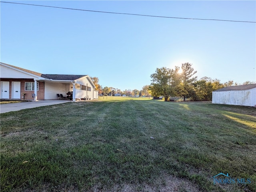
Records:
[[[256,108],[100,97],[3,113],[0,165],[1,192],[256,192]]]

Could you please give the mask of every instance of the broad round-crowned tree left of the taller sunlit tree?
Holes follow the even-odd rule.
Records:
[[[166,67],[156,68],[156,73],[150,75],[152,78],[150,90],[153,96],[159,97],[163,95],[164,101],[169,97],[176,96],[178,85],[180,83],[179,67],[169,69]]]

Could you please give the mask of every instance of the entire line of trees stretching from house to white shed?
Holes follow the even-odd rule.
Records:
[[[102,87],[99,84],[98,77],[90,77],[96,86],[99,94],[114,96],[120,94],[121,96],[139,96],[139,97],[159,97],[163,96],[164,101],[168,101],[171,97],[182,97],[185,101],[190,98],[192,101],[211,101],[212,91],[218,89],[241,85],[232,80],[225,83],[220,83],[219,79],[212,79],[210,77],[202,77],[197,79],[191,63],[182,63],[181,68],[175,66],[174,69],[167,67],[156,68],[155,73],[151,74],[150,85],[144,85],[141,90],[126,89],[121,91],[114,87]],[[242,85],[254,84],[254,81],[246,81]]]

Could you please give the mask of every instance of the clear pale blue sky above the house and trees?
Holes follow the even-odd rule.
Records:
[[[1,0],[7,1],[7,0]],[[256,1],[8,1],[154,16],[256,21]],[[142,89],[156,68],[256,81],[256,23],[156,18],[0,3],[1,62]]]

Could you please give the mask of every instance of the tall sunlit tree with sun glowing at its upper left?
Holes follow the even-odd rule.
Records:
[[[182,73],[179,93],[185,101],[185,98],[191,97],[193,94],[193,83],[197,79],[197,76],[193,77],[193,75],[196,74],[197,71],[194,71],[192,64],[190,63],[182,63],[181,69]]]

